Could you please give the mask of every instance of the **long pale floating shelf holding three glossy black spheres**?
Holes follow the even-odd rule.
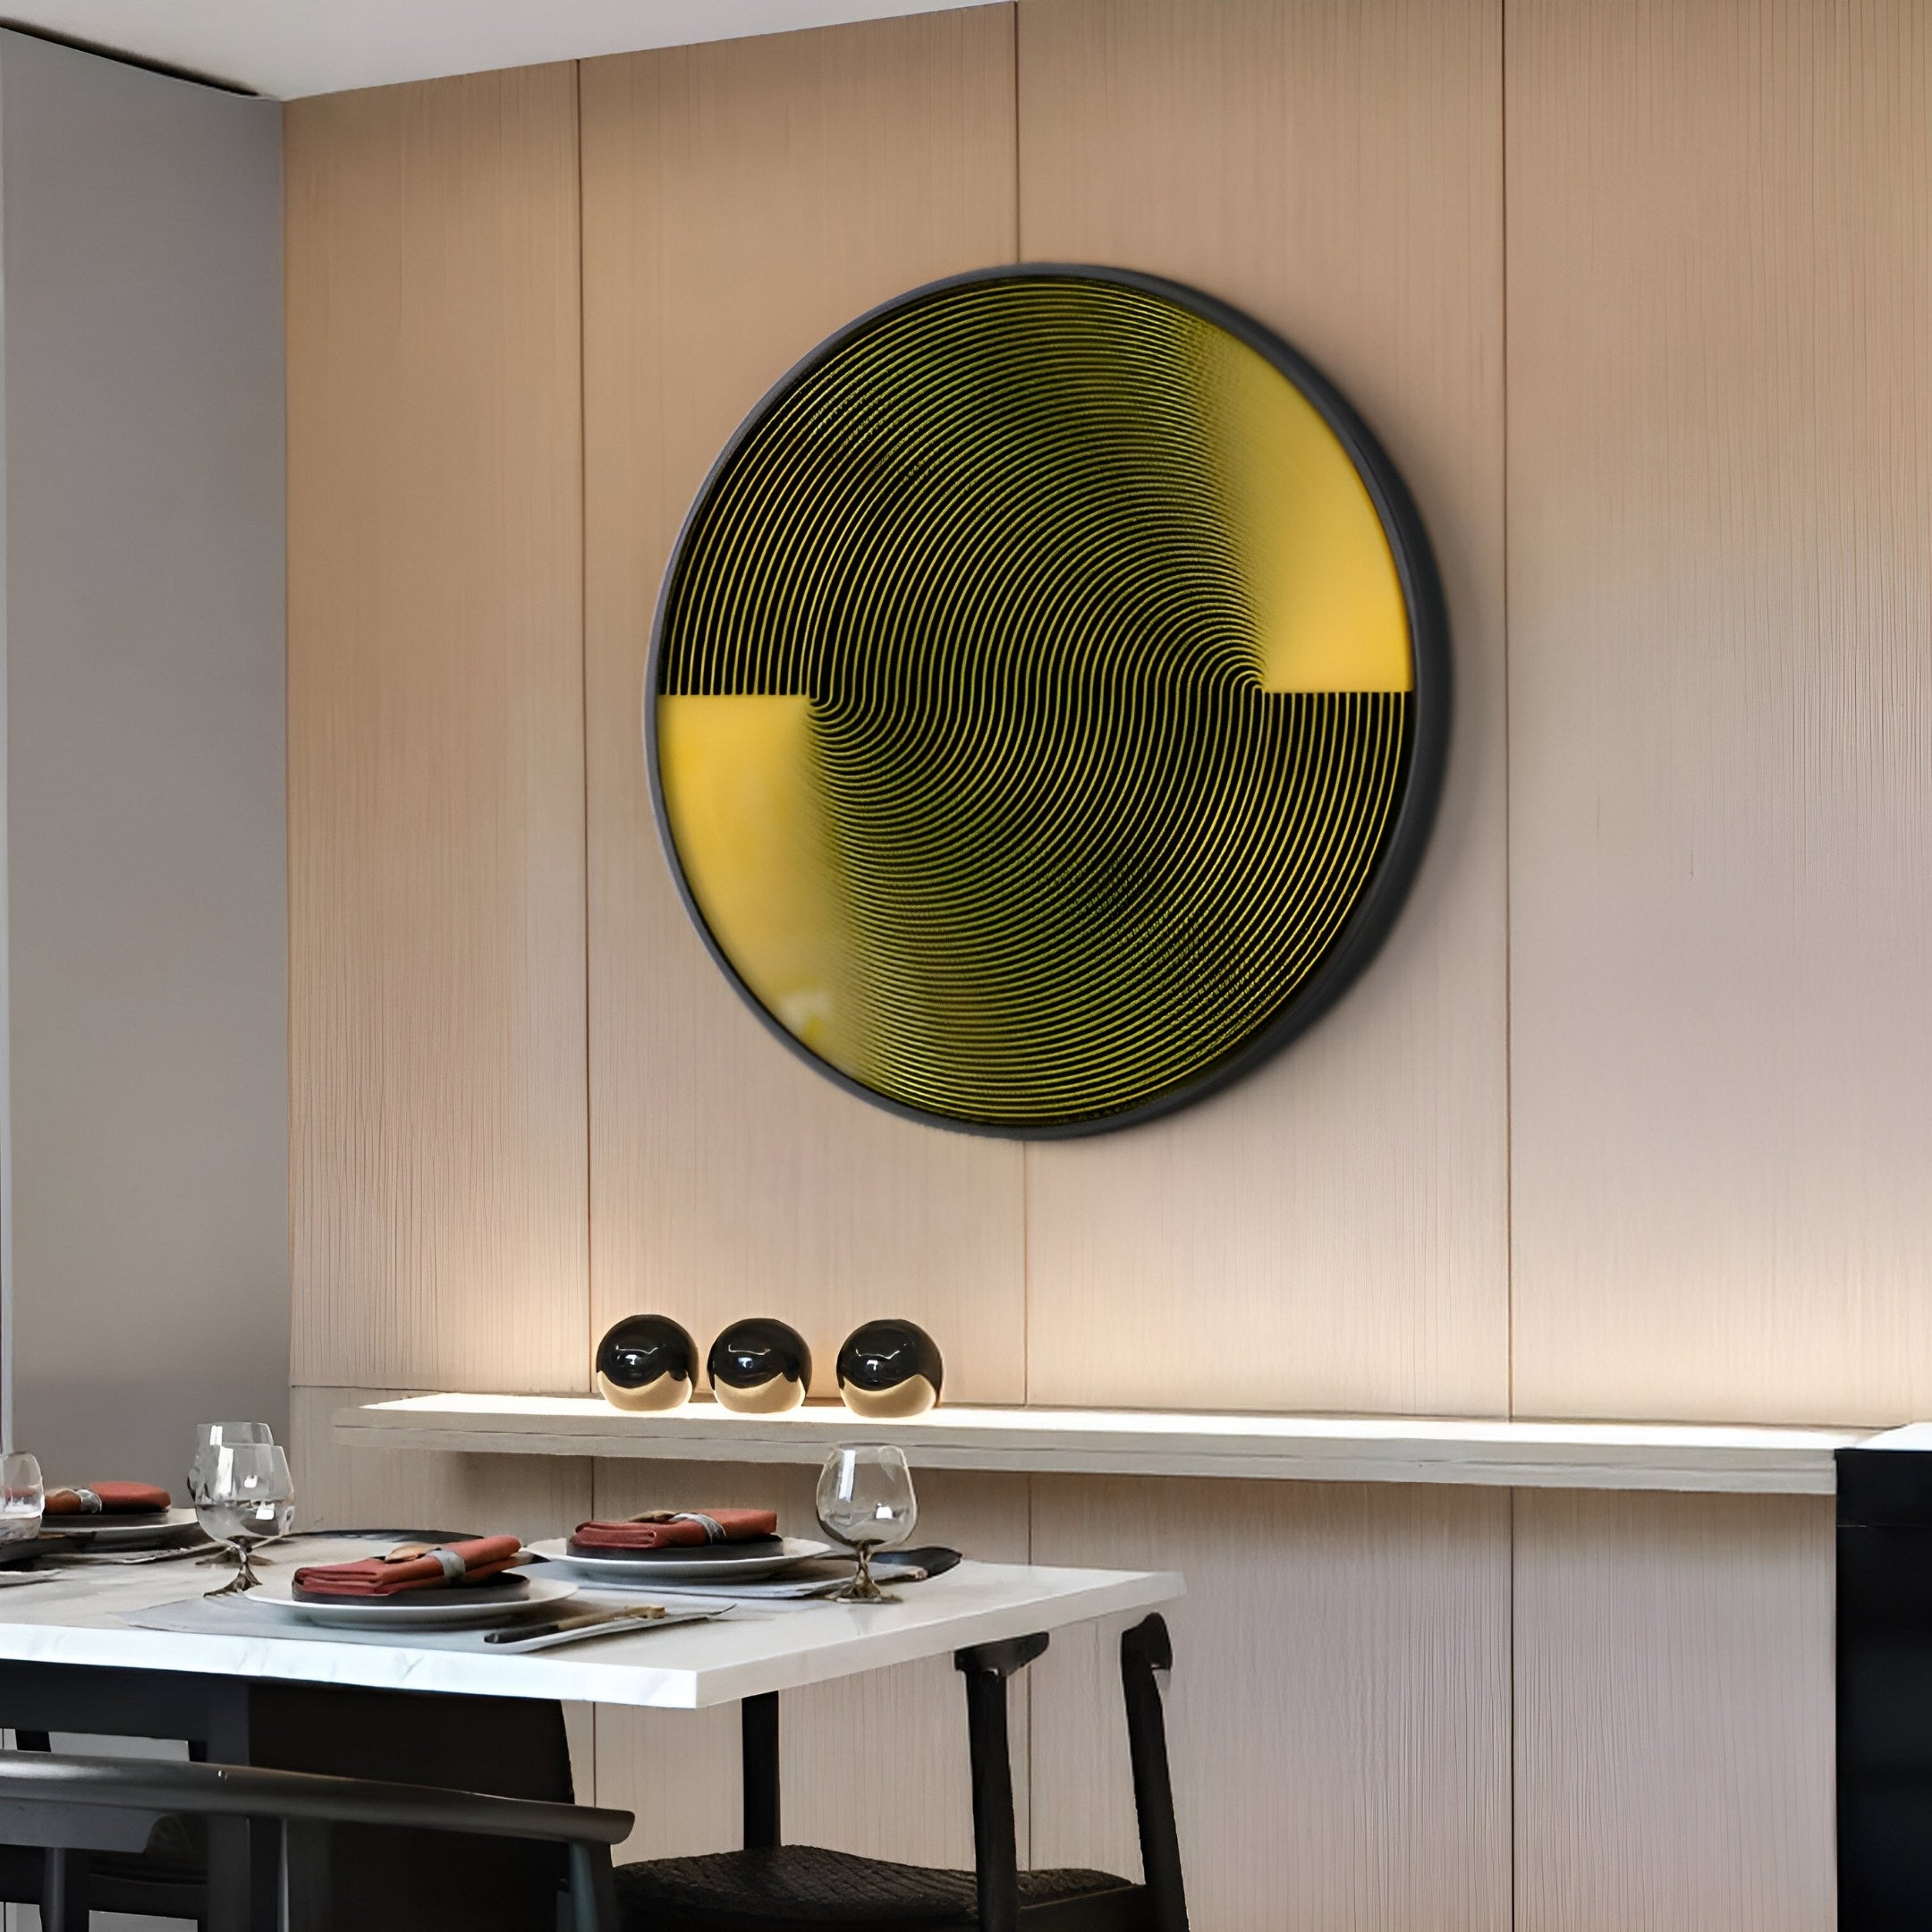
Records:
[[[1760,1495],[1830,1495],[1833,1451],[1870,1439],[1861,1430],[1121,1408],[941,1406],[914,1422],[860,1422],[817,1403],[788,1416],[734,1416],[709,1401],[634,1416],[587,1395],[412,1395],[338,1408],[334,1432],[371,1449],[761,1464],[815,1464],[856,1437],[898,1443],[914,1468]]]

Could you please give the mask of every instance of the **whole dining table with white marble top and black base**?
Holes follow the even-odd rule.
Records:
[[[299,1536],[276,1561],[342,1561],[373,1548],[384,1546]],[[699,1605],[707,1615],[516,1650],[481,1631],[269,1619],[247,1596],[207,1598],[209,1584],[209,1571],[180,1557],[0,1582],[0,1727],[174,1739],[220,1764],[568,1801],[566,1704],[738,1704],[748,1843],[777,1843],[781,1692],[922,1658],[1037,1644],[1080,1623],[1126,1625],[1184,1588],[1169,1571],[968,1559],[902,1584],[889,1604],[651,1592],[672,1611]],[[638,1602],[632,1590],[583,1586],[570,1607]],[[211,1826],[209,1932],[267,1932],[276,1922],[274,1841],[265,1832]],[[336,1833],[328,1859],[346,1922],[415,1932],[545,1922],[545,1889],[554,1886],[531,1849],[516,1845],[464,1841],[460,1855],[431,1855],[355,1828]]]

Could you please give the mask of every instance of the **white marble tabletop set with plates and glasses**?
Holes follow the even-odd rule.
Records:
[[[361,1553],[363,1548],[319,1538],[298,1548],[305,1563]],[[276,1555],[290,1561],[286,1548]],[[50,1582],[0,1588],[0,1660],[701,1710],[1032,1631],[1094,1619],[1124,1623],[1182,1592],[1180,1577],[1163,1571],[960,1563],[943,1577],[904,1586],[898,1604],[740,1604],[711,1623],[601,1636],[526,1656],[502,1656],[473,1636],[359,1634],[338,1642],[323,1631],[220,1634],[143,1629],[135,1621],[199,1600],[213,1575],[176,1561],[73,1569]],[[638,1602],[591,1590],[583,1598],[585,1607]]]

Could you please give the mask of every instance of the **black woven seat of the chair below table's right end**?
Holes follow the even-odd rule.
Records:
[[[1117,1893],[1121,1924],[1142,1893],[1109,1872],[1020,1872],[1020,1909],[1032,1911]],[[653,1859],[616,1872],[624,1932],[962,1932],[978,1924],[972,1872],[860,1859],[817,1845],[719,1851],[701,1859]]]

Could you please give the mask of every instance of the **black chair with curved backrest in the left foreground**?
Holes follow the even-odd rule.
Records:
[[[0,1760],[0,1835],[44,1859],[41,1913],[48,1932],[85,1926],[95,1899],[89,1859],[139,1853],[162,1818],[280,1824],[280,1932],[336,1932],[361,1913],[334,1915],[327,1835],[336,1826],[388,1826],[466,1837],[510,1837],[568,1853],[570,1932],[618,1932],[611,1847],[632,1814],[545,1799],[502,1799],[429,1785],[390,1785],[317,1772],[153,1758],[14,1752]],[[558,1932],[556,1920],[529,1932]]]

